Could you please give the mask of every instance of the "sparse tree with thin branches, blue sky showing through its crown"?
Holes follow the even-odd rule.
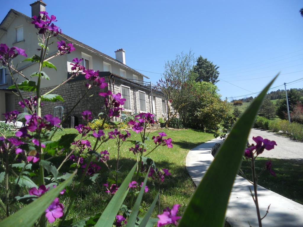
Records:
[[[189,51],[188,54],[181,52],[181,54],[176,55],[175,60],[165,63],[163,77],[158,82],[158,89],[166,95],[168,100],[168,119],[165,122],[165,127],[168,127],[180,109],[194,98],[191,92],[191,84],[196,77],[192,71],[194,62],[194,55]]]

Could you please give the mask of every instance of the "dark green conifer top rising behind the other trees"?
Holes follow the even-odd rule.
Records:
[[[214,65],[207,58],[203,58],[201,55],[197,59],[197,64],[194,66],[194,72],[197,74],[196,81],[211,82],[212,84],[217,83],[219,71],[219,66]]]

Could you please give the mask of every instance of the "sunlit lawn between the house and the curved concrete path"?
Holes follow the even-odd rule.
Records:
[[[185,206],[188,204],[191,194],[195,189],[194,183],[192,182],[187,170],[185,169],[186,155],[189,149],[192,149],[201,143],[213,139],[213,133],[205,133],[191,129],[165,129],[161,131],[164,131],[168,137],[171,137],[173,141],[173,148],[168,149],[166,146],[158,147],[153,153],[149,155],[149,157],[155,161],[156,166],[159,169],[167,168],[172,173],[172,175],[170,177],[166,177],[164,182],[160,183],[160,207],[157,207],[155,209],[152,215],[153,217],[156,217],[159,208],[162,211],[162,209],[164,209],[166,206],[171,207],[176,203],[181,204],[180,210],[185,209]],[[153,135],[158,135],[158,132],[160,131],[151,132],[149,137],[151,138]],[[64,129],[61,132],[57,132],[53,140],[58,140],[62,135],[67,133],[78,133],[78,131],[75,129]],[[132,140],[139,140],[140,134],[136,134],[132,131],[131,135]],[[79,138],[77,137],[76,139]],[[88,138],[93,145],[93,138]],[[146,144],[147,150],[151,150],[151,148],[154,147],[154,142],[152,140],[148,141]],[[119,177],[122,180],[125,178],[128,171],[132,168],[136,161],[135,155],[128,150],[129,147],[131,147],[131,144],[127,142],[125,142],[121,147],[121,158],[119,161],[121,167],[121,175]],[[98,152],[105,149],[110,153],[110,160],[108,161],[108,165],[112,166],[112,170],[114,170],[117,155],[117,150],[115,149],[115,140],[109,140],[108,143],[105,143],[104,146],[100,147]],[[55,166],[58,166],[62,160],[63,158],[58,158],[56,160],[54,159],[53,163],[55,163]],[[70,161],[65,163],[60,169],[60,174],[68,172],[69,166],[71,164],[72,162]],[[100,164],[100,166],[101,170],[98,183],[102,187],[102,184],[106,183],[106,179],[111,175],[111,173],[104,164]],[[79,176],[80,174],[78,177]],[[139,182],[142,180],[143,179],[140,179]],[[158,192],[157,183],[151,178],[148,179],[147,185],[149,187],[149,192],[145,193],[143,196],[143,200],[147,204],[146,209],[148,209],[148,205],[151,204]],[[1,198],[4,199],[4,188],[0,188],[0,192]],[[12,193],[14,193],[14,191]],[[17,192],[15,191],[15,193]],[[60,196],[59,199],[60,202],[63,202],[65,205],[67,200],[65,195]],[[80,191],[80,194],[74,203],[74,207],[69,212],[68,219],[72,218],[74,221],[81,220],[83,218],[93,216],[98,212],[102,212],[108,202],[108,199],[110,199],[110,197],[104,192],[104,187],[102,187],[102,190],[99,190],[96,185],[84,186],[82,187],[82,190]],[[128,201],[129,197],[126,198],[125,204],[128,204]],[[16,211],[20,206],[20,203],[15,203],[12,208],[14,211]],[[142,211],[141,215],[144,213],[145,211]],[[4,217],[5,214],[1,210],[0,220]]]

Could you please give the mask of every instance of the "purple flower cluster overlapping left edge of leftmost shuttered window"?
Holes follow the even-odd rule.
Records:
[[[126,99],[121,98],[121,94],[113,94],[110,90],[105,92],[100,92],[100,96],[105,97],[105,107],[109,108],[109,117],[119,117],[120,111],[123,110],[122,106]],[[109,96],[109,100],[106,96]]]

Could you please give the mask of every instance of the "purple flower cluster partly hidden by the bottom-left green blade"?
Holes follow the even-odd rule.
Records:
[[[38,189],[35,187],[29,189],[28,194],[40,197],[47,192],[48,189],[49,188],[46,188],[45,185],[40,185]],[[65,189],[61,191],[60,194],[63,194],[64,191]],[[48,222],[52,223],[55,221],[55,219],[61,218],[63,216],[63,209],[63,204],[59,202],[59,198],[55,198],[55,200],[45,210],[45,217],[47,218]]]

